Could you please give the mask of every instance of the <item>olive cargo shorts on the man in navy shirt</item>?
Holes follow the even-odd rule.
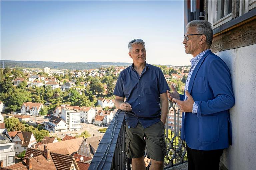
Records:
[[[147,128],[143,128],[140,122],[136,128],[128,128],[126,124],[125,148],[128,158],[139,158],[145,155],[147,145],[148,157],[156,161],[164,161],[166,155],[166,142],[164,136],[164,124],[159,121]]]

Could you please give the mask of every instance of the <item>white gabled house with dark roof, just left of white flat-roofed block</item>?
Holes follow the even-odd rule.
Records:
[[[48,122],[45,122],[45,129],[53,133],[66,132],[67,124],[62,118],[53,116]]]

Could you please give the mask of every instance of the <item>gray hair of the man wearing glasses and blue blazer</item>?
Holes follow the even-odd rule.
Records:
[[[206,36],[206,44],[210,47],[212,45],[213,33],[212,24],[206,20],[193,20],[187,24],[188,27],[196,27],[198,34]]]

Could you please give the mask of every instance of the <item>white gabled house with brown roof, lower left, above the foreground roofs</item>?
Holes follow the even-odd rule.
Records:
[[[23,152],[23,150],[27,150],[27,148],[33,148],[37,144],[36,138],[32,132],[11,131],[8,132],[8,134],[14,142],[16,155]]]

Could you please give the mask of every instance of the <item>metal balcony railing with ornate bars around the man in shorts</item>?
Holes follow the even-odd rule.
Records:
[[[179,109],[177,111],[176,109],[174,104],[170,102],[168,118],[165,124],[167,143],[167,153],[164,161],[165,169],[187,161],[185,142],[180,138],[181,115]],[[89,170],[131,169],[131,160],[127,159],[125,154],[124,117],[125,112],[118,110],[94,154]],[[174,117],[174,119],[169,119],[169,117]],[[174,121],[172,122],[172,120]],[[150,158],[147,157],[147,151],[145,160],[148,169],[151,162]]]

